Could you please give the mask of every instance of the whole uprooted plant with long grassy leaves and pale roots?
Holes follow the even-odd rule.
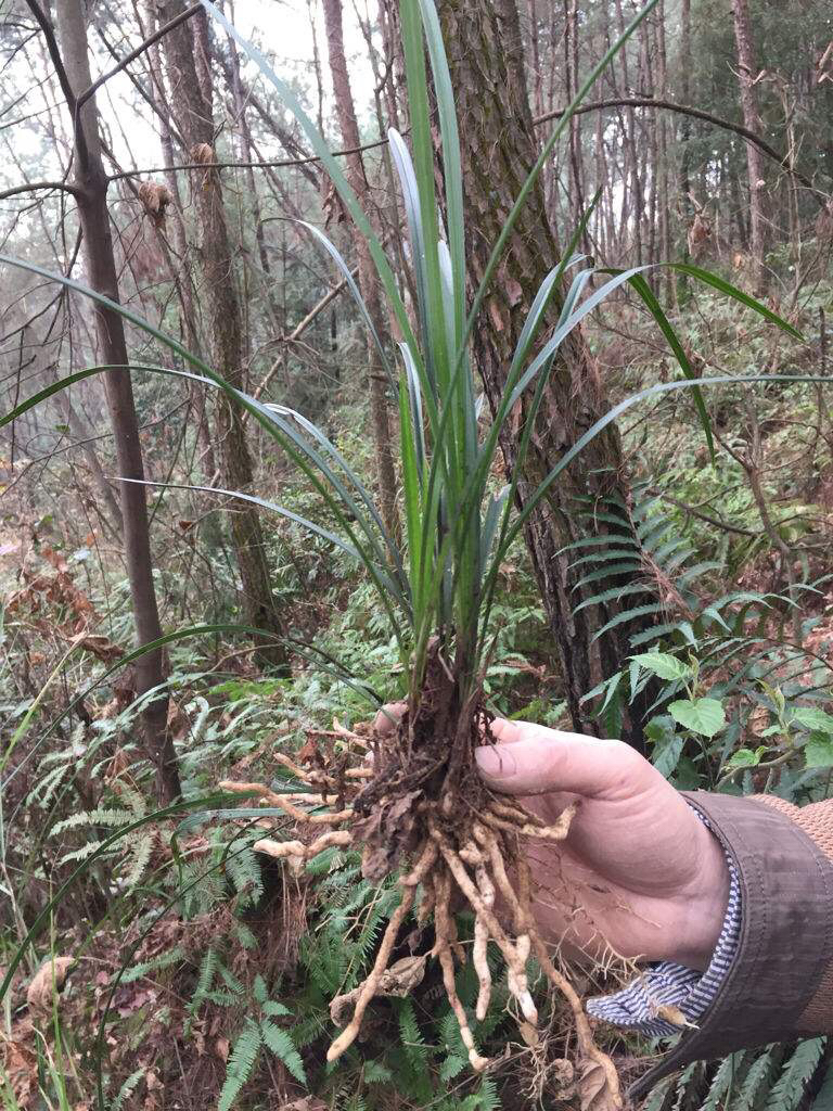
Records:
[[[455,964],[463,959],[451,904],[462,898],[474,914],[473,964],[480,982],[475,1017],[489,1008],[492,973],[486,960],[490,944],[505,962],[508,987],[520,1014],[519,1021],[536,1022],[536,1009],[528,985],[528,962],[534,957],[545,975],[566,999],[572,1011],[581,1055],[581,1084],[595,1093],[598,1111],[622,1105],[615,1069],[593,1042],[581,998],[569,979],[553,964],[535,927],[529,869],[519,850],[522,839],[559,841],[566,835],[572,811],[554,825],[521,807],[490,795],[474,772],[473,749],[490,738],[490,719],[481,681],[488,654],[490,613],[501,563],[529,516],[548,497],[561,472],[583,447],[625,408],[650,393],[691,388],[706,437],[711,443],[703,380],[694,378],[682,344],[660,308],[645,277],[646,268],[621,272],[599,270],[575,254],[582,228],[573,234],[562,260],[550,271],[529,310],[511,364],[506,368],[503,396],[485,430],[479,420],[478,388],[470,361],[470,338],[484,296],[508,243],[514,221],[535,179],[575,109],[599,74],[655,7],[650,0],[588,77],[561,117],[506,220],[483,280],[471,304],[466,301],[465,226],[460,137],[454,96],[433,0],[401,0],[402,43],[408,83],[410,149],[395,131],[389,132],[408,222],[416,303],[415,320],[400,296],[397,278],[381,243],[373,233],[359,199],[348,184],[338,160],[323,136],[304,112],[292,89],[273,72],[267,59],[247,42],[225,17],[202,0],[209,14],[231,34],[257,63],[263,77],[292,110],[312,148],[329,171],[342,202],[367,239],[391,313],[403,337],[399,343],[399,369],[373,324],[350,267],[335,246],[317,228],[305,224],[322,244],[347,281],[358,309],[370,329],[387,369],[391,389],[398,394],[399,442],[404,516],[404,543],[387,530],[371,492],[338,448],[300,413],[261,402],[233,389],[210,367],[122,306],[67,278],[57,278],[31,263],[0,259],[33,273],[61,281],[120,312],[134,326],[150,332],[164,347],[190,364],[200,380],[214,384],[249,411],[262,429],[280,444],[320,494],[335,521],[330,530],[301,518],[268,499],[250,492],[224,491],[289,518],[354,557],[373,583],[380,605],[388,614],[408,677],[404,715],[374,739],[375,763],[371,771],[359,761],[350,767],[340,760],[327,762],[319,754],[310,770],[285,753],[277,761],[299,781],[301,789],[275,792],[260,784],[221,784],[254,793],[274,812],[299,822],[325,827],[312,841],[264,839],[258,848],[300,867],[332,847],[363,847],[365,874],[381,879],[404,865],[401,901],[382,938],[373,969],[350,1000],[337,1000],[334,1013],[349,1013],[350,1021],[331,1045],[329,1057],[342,1054],[358,1035],[362,1017],[377,994],[401,988],[401,962],[391,964],[394,945],[407,917],[416,907],[416,920],[433,920],[431,954],[442,969],[449,1002],[475,1070],[488,1061],[474,1042],[470,1018],[458,997]],[[441,136],[442,180],[445,197],[444,228],[440,219],[434,174],[435,151],[431,136],[430,60],[436,117]],[[787,323],[713,274],[678,264],[676,269],[735,298],[789,332]],[[593,278],[603,279],[588,294]],[[523,469],[532,429],[553,361],[561,344],[614,290],[630,283],[654,316],[678,358],[685,378],[643,391],[621,402],[601,418],[553,467],[538,489],[514,511],[515,490]],[[553,299],[562,308],[552,333],[543,342],[539,334],[550,319]],[[14,419],[32,404],[59,389],[103,368],[71,374],[19,406],[4,418]],[[179,373],[163,367],[142,367]],[[709,381],[755,381],[714,378]],[[499,438],[519,399],[529,393],[526,419],[520,432],[516,462],[508,487],[496,497],[490,492],[492,464]],[[322,811],[322,792],[330,803]],[[313,808],[311,810],[311,808]],[[494,911],[500,898],[508,920]],[[424,968],[425,958],[421,958]],[[421,974],[421,973],[420,973]],[[408,975],[413,975],[409,964]]]

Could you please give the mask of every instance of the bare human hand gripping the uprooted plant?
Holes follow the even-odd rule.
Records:
[[[475,751],[484,781],[553,822],[578,801],[568,838],[529,842],[542,934],[599,954],[705,969],[729,901],[717,839],[682,795],[622,741],[520,721],[492,722]]]

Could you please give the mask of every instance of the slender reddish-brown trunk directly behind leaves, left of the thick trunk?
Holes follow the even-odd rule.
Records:
[[[341,0],[324,0],[324,26],[327,27],[327,47],[330,57],[335,110],[339,117],[342,144],[352,149],[361,144],[359,138],[359,121],[353,106],[353,93],[350,88],[347,59],[344,57],[344,38],[341,26]],[[348,154],[345,174],[350,187],[357,197],[367,197],[370,189],[364,176],[364,167],[360,153]],[[384,337],[382,301],[377,274],[370,250],[364,237],[355,230],[353,236],[357,261],[359,263],[359,289],[368,307],[368,314],[377,334]],[[392,537],[400,533],[397,512],[397,472],[393,467],[391,450],[391,427],[388,410],[388,379],[384,373],[379,352],[370,336],[368,336],[368,388],[370,393],[370,419],[373,428],[373,448],[375,454],[377,480],[379,482],[379,500],[382,520]]]

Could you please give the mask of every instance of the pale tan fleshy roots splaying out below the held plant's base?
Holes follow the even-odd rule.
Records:
[[[340,728],[339,732],[350,737],[347,730]],[[358,737],[355,740],[360,749],[367,749],[365,742]],[[621,1108],[615,1068],[594,1043],[581,997],[550,959],[532,913],[532,881],[524,842],[563,840],[574,808],[565,810],[554,824],[546,824],[520,805],[486,793],[472,807],[465,792],[449,787],[448,780],[436,798],[431,798],[430,790],[403,791],[401,777],[399,789],[394,790],[390,775],[374,777],[363,763],[364,753],[358,754],[362,762],[357,767],[345,769],[342,761],[337,770],[328,771],[322,761],[309,769],[275,753],[279,762],[307,788],[301,792],[281,794],[259,783],[220,784],[229,791],[257,794],[262,804],[280,809],[298,823],[298,839],[263,838],[254,844],[257,851],[287,861],[295,872],[333,845],[362,848],[365,874],[371,878],[380,877],[380,859],[390,864],[401,855],[410,862],[399,879],[400,902],[381,939],[370,974],[357,989],[337,997],[331,1004],[338,1024],[347,1015],[350,1018],[330,1045],[328,1060],[341,1057],[355,1041],[375,997],[405,994],[422,979],[424,958],[393,960],[400,931],[414,911],[420,925],[433,921],[434,943],[428,957],[439,962],[444,991],[472,1069],[482,1072],[490,1061],[478,1050],[454,974],[458,965],[471,959],[479,981],[474,1013],[478,1021],[483,1020],[493,988],[488,951],[490,945],[496,945],[505,965],[510,1008],[522,1030],[525,1024],[524,1038],[529,1040],[530,1028],[534,1030],[538,1023],[528,983],[529,962],[534,957],[572,1013],[580,1059],[579,1087],[581,1090],[583,1078],[586,1091],[582,1094],[589,1097],[588,1105],[600,1111]],[[365,785],[368,780],[370,784]],[[310,812],[310,808],[315,808],[315,812]],[[371,818],[367,817],[369,809]],[[272,822],[263,819],[259,824],[271,827]],[[453,913],[453,909],[466,908],[474,915],[469,952],[458,938]]]

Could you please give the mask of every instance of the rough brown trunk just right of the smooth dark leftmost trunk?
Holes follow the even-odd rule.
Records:
[[[168,22],[184,10],[182,0],[162,0],[160,21]],[[180,133],[188,143],[188,160],[204,162],[192,171],[201,242],[202,301],[208,317],[214,370],[238,389],[242,373],[242,326],[234,289],[234,266],[223,202],[220,171],[214,161],[210,39],[204,12],[181,23],[164,38],[172,107]],[[200,26],[202,24],[202,26]],[[220,447],[222,484],[228,490],[251,492],[253,469],[241,410],[225,394],[217,402],[217,439]],[[242,609],[247,622],[273,638],[282,627],[272,598],[263,533],[257,511],[245,503],[231,512],[231,539],[242,583]],[[258,638],[257,659],[262,665],[287,670],[287,651],[278,639]]]

